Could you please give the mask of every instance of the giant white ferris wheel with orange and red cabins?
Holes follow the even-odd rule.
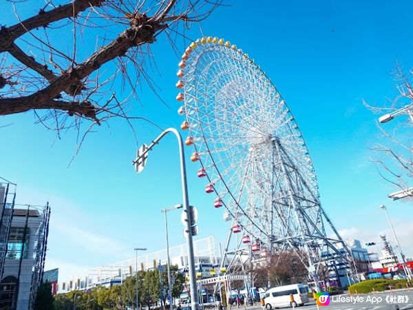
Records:
[[[191,161],[200,163],[211,207],[225,209],[240,247],[255,256],[298,249],[308,266],[321,243],[338,253],[343,240],[321,208],[306,143],[268,76],[217,37],[191,43],[179,67],[176,99],[184,103],[178,113]],[[323,218],[337,238],[327,238]]]

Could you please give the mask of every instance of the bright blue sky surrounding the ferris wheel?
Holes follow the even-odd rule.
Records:
[[[319,180],[321,203],[346,238],[379,240],[388,225],[379,205],[388,205],[401,245],[413,256],[409,203],[394,203],[394,191],[377,172],[369,147],[379,141],[377,115],[363,106],[385,105],[397,94],[391,75],[396,61],[413,66],[410,1],[229,1],[187,33],[223,37],[255,60],[281,92],[306,139]],[[251,4],[253,3],[253,4]],[[2,6],[5,6],[4,4]],[[12,16],[8,24],[14,23]],[[187,41],[186,43],[189,43]],[[184,42],[178,42],[184,50]],[[151,47],[159,72],[151,76],[169,107],[142,85],[134,115],[161,127],[178,127],[178,56],[165,35]],[[116,85],[120,92],[120,85]],[[116,88],[115,87],[115,88]],[[145,88],[146,87],[146,88]],[[142,106],[140,105],[142,104]],[[61,274],[134,256],[165,246],[160,209],[181,203],[178,150],[173,136],[149,154],[136,174],[136,147],[160,131],[135,121],[138,145],[125,121],[89,134],[70,167],[74,132],[56,140],[34,125],[32,112],[0,118],[0,175],[17,182],[19,203],[52,206],[46,267]],[[401,116],[401,121],[407,118]],[[396,122],[396,121],[394,121]],[[385,124],[391,129],[394,123]],[[192,149],[187,149],[187,158]],[[188,161],[191,205],[199,210],[199,238],[224,240],[226,223],[204,194],[198,165]],[[184,242],[180,212],[170,216],[171,245]],[[390,236],[390,235],[389,235]]]

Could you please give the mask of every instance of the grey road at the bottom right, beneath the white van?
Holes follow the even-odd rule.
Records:
[[[387,298],[387,301],[386,301]],[[407,302],[403,302],[406,300]],[[399,301],[399,302],[398,302]],[[402,301],[402,302],[401,302]],[[389,303],[391,302],[391,303]],[[244,308],[240,307],[240,310]],[[262,307],[248,307],[248,310],[262,310]],[[282,309],[291,309],[284,307]],[[297,310],[316,310],[317,305],[313,299],[303,307],[297,307]],[[388,291],[383,293],[370,293],[357,295],[336,295],[330,296],[330,304],[328,306],[319,306],[320,310],[407,310],[413,309],[413,290],[411,291]],[[237,308],[231,307],[231,310]]]

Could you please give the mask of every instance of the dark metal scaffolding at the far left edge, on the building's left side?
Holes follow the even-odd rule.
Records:
[[[0,280],[6,262],[7,241],[12,225],[16,184],[0,177]]]

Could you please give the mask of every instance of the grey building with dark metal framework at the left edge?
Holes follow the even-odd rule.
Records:
[[[31,310],[43,277],[50,208],[15,205],[15,185],[0,181],[0,309]]]

